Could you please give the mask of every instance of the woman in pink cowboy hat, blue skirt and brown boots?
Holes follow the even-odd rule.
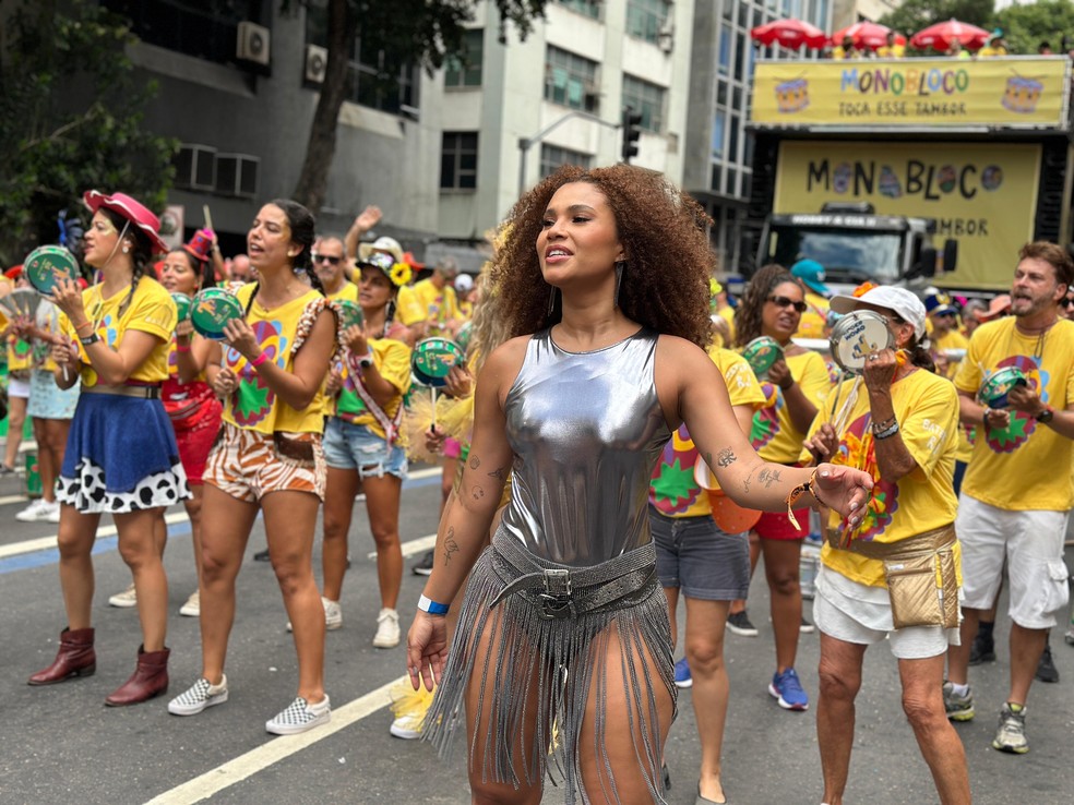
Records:
[[[142,625],[138,666],[105,699],[117,707],[168,688],[168,582],[154,524],[162,508],[190,492],[160,403],[176,305],[147,276],[153,254],[167,251],[157,235],[159,221],[123,193],[91,190],[84,200],[93,211],[85,262],[102,280],[80,290],[60,279],[52,290],[63,313],[63,335],[52,348],[56,381],[62,388],[82,384],[57,490],[68,627],[56,660],[31,676],[29,684],[49,685],[96,671],[90,554],[100,515],[107,512],[119,531],[120,555],[134,575]],[[132,422],[138,426],[130,426]]]

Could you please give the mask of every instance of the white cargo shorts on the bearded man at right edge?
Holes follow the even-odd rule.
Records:
[[[995,601],[1006,561],[1007,614],[1027,629],[1048,629],[1066,606],[1070,572],[1063,562],[1067,512],[1011,512],[963,493],[955,532],[963,549],[964,605],[987,610]]]

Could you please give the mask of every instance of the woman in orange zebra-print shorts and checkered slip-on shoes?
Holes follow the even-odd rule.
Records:
[[[246,315],[225,325],[226,348],[216,345],[210,357],[211,364],[223,360],[210,382],[224,398],[224,425],[203,476],[202,673],[168,705],[176,716],[194,716],[227,701],[235,579],[261,512],[298,652],[298,695],[265,724],[278,735],[330,718],[313,533],[324,500],[323,386],[336,320],[310,262],[313,228],[306,207],[277,199],[261,207],[247,235],[259,280],[239,289]]]

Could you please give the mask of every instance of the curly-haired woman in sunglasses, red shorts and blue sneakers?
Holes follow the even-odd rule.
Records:
[[[832,382],[819,352],[791,341],[807,310],[806,291],[797,277],[780,265],[766,265],[750,280],[735,314],[738,345],[749,351],[754,339],[769,339],[769,347],[781,350],[766,371],[761,387],[768,404],[753,416],[750,440],[767,461],[796,466],[802,440],[816,416],[818,406]],[[795,671],[798,636],[812,626],[802,618],[799,561],[802,540],[809,533],[809,512],[800,510],[796,526],[778,514],[762,514],[750,534],[750,564],[755,567],[764,554],[768,581],[772,630],[776,644],[776,672],[768,693],[786,710],[806,710],[809,696]],[[748,636],[756,635],[745,612],[745,601],[731,604],[727,627]]]

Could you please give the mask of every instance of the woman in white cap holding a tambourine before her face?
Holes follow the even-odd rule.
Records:
[[[958,398],[921,347],[924,305],[912,292],[879,286],[833,298],[832,310],[849,314],[833,331],[833,357],[858,376],[821,407],[802,458],[862,469],[874,486],[859,525],[831,517],[816,577],[823,802],[843,802],[862,660],[886,639],[940,801],[969,803],[965,752],[941,692],[947,646],[958,642]]]

